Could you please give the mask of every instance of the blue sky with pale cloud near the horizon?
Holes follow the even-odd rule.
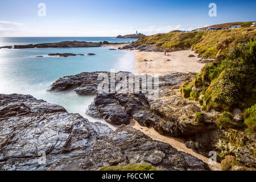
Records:
[[[217,16],[210,17],[209,3]],[[38,16],[38,4],[46,16]],[[256,1],[1,0],[0,36],[117,36],[256,20]]]

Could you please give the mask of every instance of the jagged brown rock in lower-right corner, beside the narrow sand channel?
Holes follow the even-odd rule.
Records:
[[[233,129],[216,129],[207,133],[197,133],[185,141],[185,146],[204,156],[208,156],[210,151],[216,151],[218,162],[226,155],[234,155],[239,162],[255,168],[255,141],[255,135]]]

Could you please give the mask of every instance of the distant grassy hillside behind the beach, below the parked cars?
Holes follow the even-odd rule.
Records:
[[[176,51],[192,48],[201,57],[215,58],[220,52],[237,43],[256,39],[256,27],[203,32],[170,32],[144,36],[136,43],[155,44],[158,47]]]

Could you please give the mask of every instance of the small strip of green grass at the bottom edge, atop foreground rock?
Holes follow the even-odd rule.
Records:
[[[102,167],[100,171],[159,171],[148,164],[119,164],[118,166]]]

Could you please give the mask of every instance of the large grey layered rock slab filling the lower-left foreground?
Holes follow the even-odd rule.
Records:
[[[208,169],[194,156],[130,126],[113,131],[32,96],[0,94],[0,130],[1,170],[97,170],[118,163]]]

